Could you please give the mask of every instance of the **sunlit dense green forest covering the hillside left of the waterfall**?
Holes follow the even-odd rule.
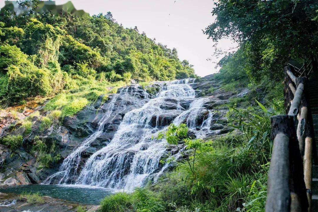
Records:
[[[18,3],[34,3],[36,8],[38,1]],[[8,8],[1,10],[0,27],[2,105],[64,90],[74,93],[96,82],[105,87],[107,82],[130,82],[130,78],[195,77],[192,65],[180,61],[176,49],[156,44],[137,27],[124,28],[110,12],[76,17],[30,10],[19,16]]]

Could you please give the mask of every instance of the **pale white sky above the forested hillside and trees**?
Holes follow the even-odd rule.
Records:
[[[66,3],[57,0],[56,4]],[[214,21],[211,14],[213,0],[73,0],[77,10],[90,15],[110,11],[125,28],[137,26],[139,32],[156,38],[176,48],[181,60],[189,60],[197,75],[206,76],[217,72],[215,64],[220,58],[211,57],[213,42],[202,30]],[[4,6],[4,1],[1,2]],[[230,40],[220,42],[223,50],[232,47]],[[211,58],[211,61],[207,59]]]

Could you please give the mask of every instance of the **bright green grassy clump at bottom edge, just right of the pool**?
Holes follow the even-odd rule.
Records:
[[[129,212],[133,210],[131,196],[129,194],[118,192],[113,195],[106,196],[100,202],[101,212]]]

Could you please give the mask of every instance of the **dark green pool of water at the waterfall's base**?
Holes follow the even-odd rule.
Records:
[[[0,192],[17,194],[31,192],[83,204],[99,204],[105,196],[114,193],[114,190],[83,185],[32,184],[0,188]]]

